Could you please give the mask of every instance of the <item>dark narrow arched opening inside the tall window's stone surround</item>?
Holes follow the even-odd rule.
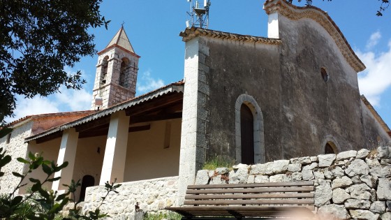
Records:
[[[240,140],[242,144],[242,163],[254,163],[254,119],[253,112],[242,104],[240,107]]]

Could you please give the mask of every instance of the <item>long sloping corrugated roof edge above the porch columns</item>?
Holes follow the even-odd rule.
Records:
[[[184,91],[183,89],[184,89],[184,82],[183,81],[174,82],[170,85],[166,85],[165,87],[161,87],[160,89],[150,91],[147,94],[143,94],[142,96],[132,98],[128,101],[124,101],[123,103],[119,103],[119,104],[114,105],[114,106],[107,108],[105,110],[100,110],[94,114],[88,115],[86,117],[82,117],[81,119],[77,119],[73,122],[68,122],[66,124],[62,124],[60,126],[54,127],[53,129],[43,131],[42,133],[32,135],[29,138],[24,139],[24,141],[29,142],[31,140],[43,138],[43,137],[50,135],[52,133],[57,133],[59,131],[64,131],[66,129],[71,129],[71,128],[78,126],[80,124],[91,122],[91,121],[94,121],[94,120],[99,119],[101,117],[112,115],[113,113],[118,112],[120,110],[125,110],[127,108],[130,108],[131,106],[138,105],[140,103],[143,103],[148,100],[152,100],[154,98],[158,98],[160,96],[163,96],[164,94],[169,94],[172,92],[183,92]]]

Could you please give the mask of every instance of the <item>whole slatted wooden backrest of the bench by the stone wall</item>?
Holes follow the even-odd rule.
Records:
[[[313,182],[189,185],[188,206],[306,206],[314,209]]]

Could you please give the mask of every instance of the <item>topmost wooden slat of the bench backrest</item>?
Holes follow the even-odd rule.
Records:
[[[259,184],[207,184],[189,185],[187,189],[225,189],[225,188],[251,188],[251,187],[274,187],[274,186],[313,186],[313,181],[299,182],[265,182]]]

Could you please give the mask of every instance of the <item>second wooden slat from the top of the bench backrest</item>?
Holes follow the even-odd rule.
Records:
[[[228,184],[227,184],[228,185]],[[299,187],[271,187],[271,188],[246,188],[246,189],[188,189],[186,194],[206,194],[206,193],[270,193],[270,192],[298,192],[313,191],[313,186]]]

